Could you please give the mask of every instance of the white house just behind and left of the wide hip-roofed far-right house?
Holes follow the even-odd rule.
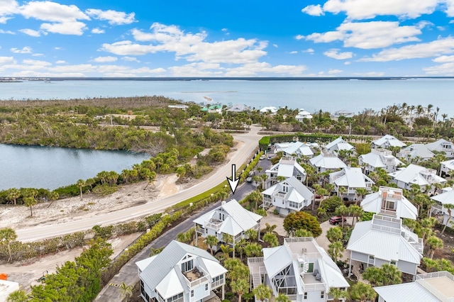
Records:
[[[375,169],[381,168],[386,172],[391,173],[397,170],[397,167],[404,165],[403,162],[397,159],[392,152],[387,149],[372,149],[370,153],[360,155],[358,164],[364,167],[364,173],[369,175]]]

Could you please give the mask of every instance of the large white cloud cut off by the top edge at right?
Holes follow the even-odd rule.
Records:
[[[328,0],[323,4],[323,11],[335,14],[345,12],[350,20],[375,18],[375,16],[417,18],[423,14],[433,13],[439,1],[440,0]]]

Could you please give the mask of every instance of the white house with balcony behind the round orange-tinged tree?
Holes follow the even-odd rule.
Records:
[[[279,214],[287,216],[310,206],[314,192],[296,177],[290,177],[262,191],[263,206],[275,206]]]

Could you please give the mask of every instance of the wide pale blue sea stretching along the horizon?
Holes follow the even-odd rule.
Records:
[[[311,113],[371,108],[393,104],[432,104],[440,114],[454,116],[454,79],[404,80],[65,80],[0,83],[0,100],[87,99],[160,95],[182,101],[245,104],[254,108],[287,106]]]

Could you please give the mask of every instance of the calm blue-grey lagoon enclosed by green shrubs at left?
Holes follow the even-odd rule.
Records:
[[[82,150],[0,144],[0,190],[57,189],[101,171],[131,169],[149,155],[124,151]]]

